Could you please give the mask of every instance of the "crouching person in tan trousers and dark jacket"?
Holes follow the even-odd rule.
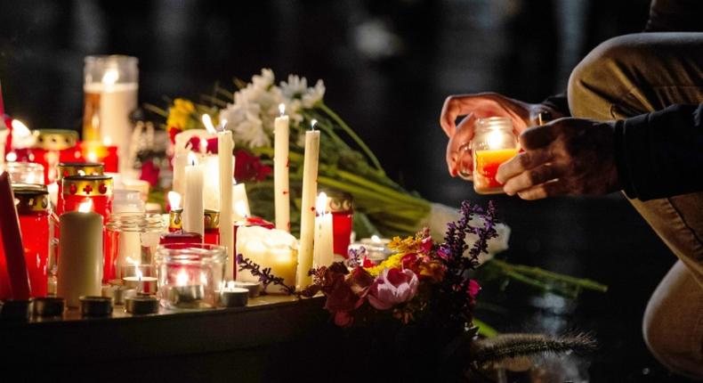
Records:
[[[679,258],[645,310],[645,341],[667,368],[694,379],[703,379],[702,19],[703,2],[655,0],[645,32],[596,47],[572,71],[566,94],[538,104],[453,95],[440,117],[453,176],[470,168],[459,150],[475,118],[503,116],[524,150],[498,168],[507,194],[625,192]],[[533,126],[544,111],[558,119]]]

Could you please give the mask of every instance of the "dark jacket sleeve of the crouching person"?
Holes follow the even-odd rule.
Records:
[[[614,134],[627,197],[651,200],[703,191],[703,104],[672,105],[619,120]]]

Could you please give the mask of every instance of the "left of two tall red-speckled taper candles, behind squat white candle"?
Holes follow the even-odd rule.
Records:
[[[289,118],[284,116],[286,105],[280,104],[280,117],[273,121],[275,138],[273,152],[273,192],[276,206],[276,228],[290,232],[290,194],[288,193],[288,135]]]

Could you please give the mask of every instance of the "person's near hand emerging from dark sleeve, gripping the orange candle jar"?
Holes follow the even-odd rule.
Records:
[[[520,143],[525,151],[498,167],[496,175],[508,195],[538,200],[618,190],[611,123],[560,118],[525,130]]]

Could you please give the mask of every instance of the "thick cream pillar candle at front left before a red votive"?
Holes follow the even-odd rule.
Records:
[[[69,307],[80,306],[81,296],[101,295],[102,216],[91,208],[88,202],[61,215],[56,292]]]

